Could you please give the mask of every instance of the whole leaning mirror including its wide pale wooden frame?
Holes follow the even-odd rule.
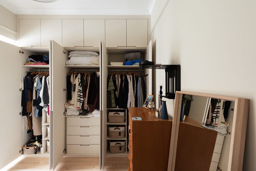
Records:
[[[168,171],[242,171],[249,100],[176,92]]]

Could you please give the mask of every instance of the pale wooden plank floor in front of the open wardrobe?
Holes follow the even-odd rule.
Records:
[[[107,158],[104,171],[128,171],[128,158]],[[23,158],[8,171],[48,171],[49,158]],[[63,157],[54,171],[98,171],[99,158]]]

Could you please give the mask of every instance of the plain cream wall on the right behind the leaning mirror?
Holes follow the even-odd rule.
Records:
[[[155,62],[181,64],[182,91],[250,99],[243,171],[256,168],[255,7],[255,0],[170,0],[151,35]],[[165,84],[160,72],[154,95]]]

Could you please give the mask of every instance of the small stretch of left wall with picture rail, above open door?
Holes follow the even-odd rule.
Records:
[[[0,5],[0,35],[16,40],[16,15]]]

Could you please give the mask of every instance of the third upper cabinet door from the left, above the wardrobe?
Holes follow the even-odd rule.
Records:
[[[62,43],[63,47],[84,46],[83,19],[62,20]]]

